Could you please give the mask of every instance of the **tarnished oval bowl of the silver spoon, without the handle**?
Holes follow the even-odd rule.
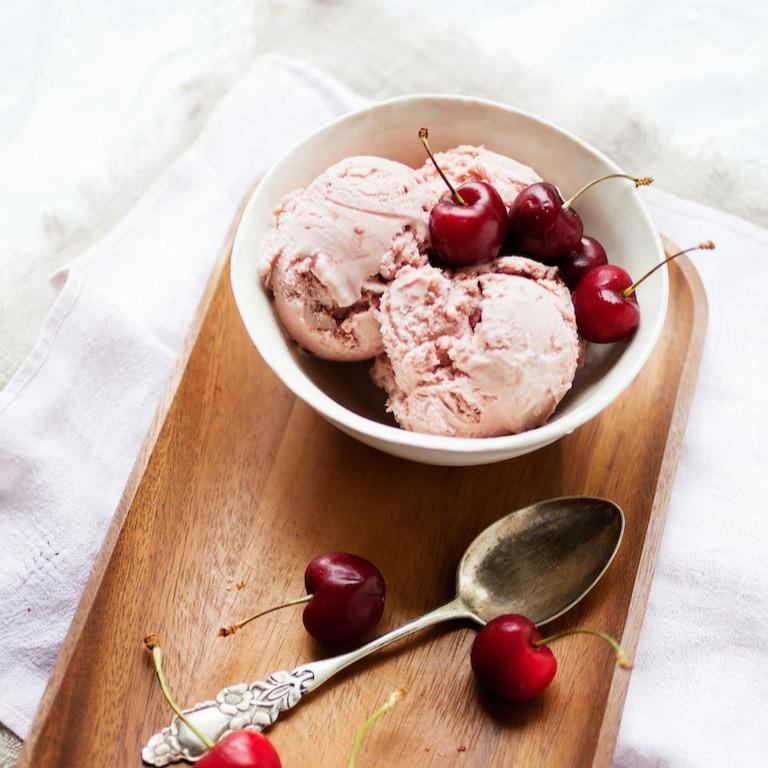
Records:
[[[482,531],[456,573],[456,591],[485,624],[521,613],[546,624],[578,603],[611,564],[624,514],[608,499],[567,496],[515,510]]]

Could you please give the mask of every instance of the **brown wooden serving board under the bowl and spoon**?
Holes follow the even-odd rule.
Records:
[[[302,594],[314,555],[341,549],[379,565],[388,583],[384,631],[452,596],[459,557],[480,530],[547,497],[594,494],[624,508],[613,565],[550,628],[607,630],[631,656],[706,327],[690,264],[671,266],[661,340],[599,418],[519,459],[441,468],[355,442],[282,386],[232,298],[223,267],[233,232],[20,765],[141,764],[141,747],[170,719],[142,647],[148,632],[163,638],[171,687],[192,705],[323,655],[302,627],[301,608],[216,637],[221,624]],[[603,643],[559,641],[555,682],[533,704],[511,707],[477,689],[474,636],[461,624],[427,630],[311,693],[269,731],[284,768],[345,766],[355,731],[396,687],[408,696],[370,732],[359,768],[611,764],[629,673],[614,667]]]

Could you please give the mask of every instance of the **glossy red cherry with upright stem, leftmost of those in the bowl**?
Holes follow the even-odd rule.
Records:
[[[429,148],[428,135],[426,128],[419,131],[427,154],[450,190],[429,214],[432,248],[451,267],[493,261],[507,232],[507,208],[501,195],[484,181],[468,182],[454,189]]]

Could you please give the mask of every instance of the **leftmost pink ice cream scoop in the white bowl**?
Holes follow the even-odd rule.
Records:
[[[426,263],[427,216],[415,172],[380,157],[348,157],[288,195],[259,255],[288,334],[330,360],[381,352],[379,296]]]

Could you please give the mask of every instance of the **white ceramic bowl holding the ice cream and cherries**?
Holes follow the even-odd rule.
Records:
[[[433,149],[484,144],[535,168],[565,195],[621,169],[594,147],[532,115],[479,99],[406,96],[347,115],[295,145],[251,196],[232,251],[232,288],[248,333],[283,383],[339,429],[395,456],[428,464],[489,464],[535,451],[596,416],[632,381],[659,336],[668,278],[659,270],[638,290],[640,328],[627,343],[589,345],[587,363],[547,424],[519,435],[457,438],[408,432],[384,409],[384,393],[368,378],[368,363],[310,357],[284,334],[269,292],[256,274],[256,256],[284,194],[309,184],[349,155],[380,155],[413,167],[424,162],[417,133],[431,130]],[[632,169],[646,172],[648,169]],[[597,237],[613,263],[639,276],[663,257],[661,240],[632,184],[609,181],[577,205],[585,231]],[[267,408],[268,403],[254,403]]]

